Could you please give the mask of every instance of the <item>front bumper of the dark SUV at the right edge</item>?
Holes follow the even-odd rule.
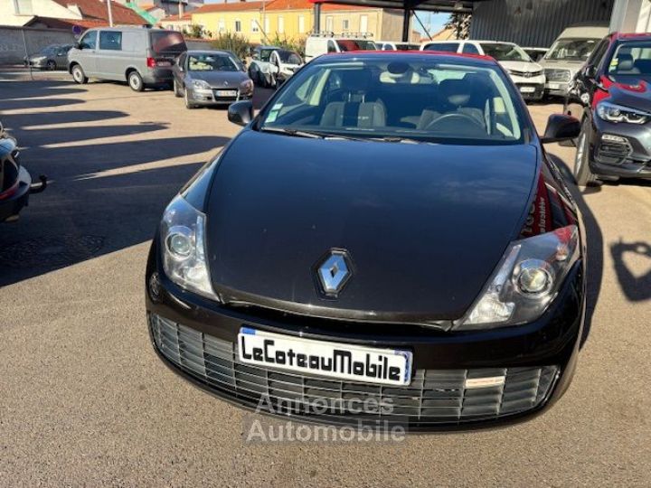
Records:
[[[614,124],[593,117],[590,170],[601,176],[651,178],[651,122]]]

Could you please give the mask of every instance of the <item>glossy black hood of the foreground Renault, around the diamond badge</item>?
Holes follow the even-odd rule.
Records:
[[[458,318],[520,230],[533,145],[411,145],[245,130],[206,202],[212,283],[227,301],[317,316]],[[317,287],[350,253],[336,299]]]

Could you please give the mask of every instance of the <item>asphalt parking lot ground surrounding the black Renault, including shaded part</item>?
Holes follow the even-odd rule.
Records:
[[[530,107],[541,132],[560,108]],[[171,91],[65,79],[0,82],[0,117],[51,180],[0,227],[0,484],[649,484],[650,184],[577,194],[590,333],[542,417],[401,443],[248,444],[248,414],[156,358],[143,290],[166,202],[239,127]],[[549,150],[571,167],[573,148]]]

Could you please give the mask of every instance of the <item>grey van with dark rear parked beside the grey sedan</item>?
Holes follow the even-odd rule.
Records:
[[[127,81],[134,91],[172,84],[175,58],[187,51],[175,31],[139,27],[90,29],[68,53],[68,71],[76,83]]]

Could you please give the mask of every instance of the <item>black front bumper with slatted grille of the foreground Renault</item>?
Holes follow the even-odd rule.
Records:
[[[257,409],[261,413],[333,425],[383,422],[410,431],[491,427],[541,413],[570,384],[585,311],[582,264],[574,268],[540,320],[471,333],[344,323],[219,305],[169,281],[156,245],[150,252],[146,284],[154,348],[173,371],[193,384],[244,408],[258,408],[264,398],[264,408]],[[404,387],[380,386],[243,364],[237,353],[242,325],[308,339],[410,349],[412,380]],[[495,376],[504,376],[504,384],[465,387],[468,378]],[[379,399],[392,408],[364,413],[310,408],[311,403],[333,399],[344,405],[352,399],[358,404]]]

